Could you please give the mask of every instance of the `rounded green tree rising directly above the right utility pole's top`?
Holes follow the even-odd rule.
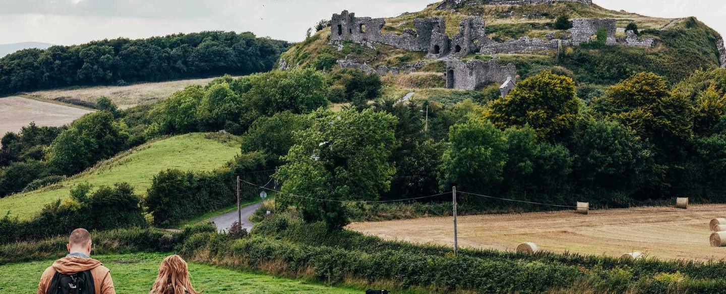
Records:
[[[449,148],[441,159],[442,189],[494,192],[507,163],[504,134],[484,118],[470,118],[449,131]]]

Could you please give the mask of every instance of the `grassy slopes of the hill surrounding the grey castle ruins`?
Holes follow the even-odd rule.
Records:
[[[719,66],[716,39],[719,34],[696,20],[695,17],[669,19],[648,17],[625,11],[614,11],[597,5],[587,6],[579,3],[560,2],[555,4],[531,5],[478,5],[460,9],[436,9],[431,4],[420,12],[406,13],[398,17],[386,18],[383,33],[403,33],[404,29],[414,28],[417,17],[443,17],[446,20],[446,33],[458,33],[460,20],[478,16],[486,20],[487,36],[497,42],[510,38],[546,39],[548,32],[562,36],[566,30],[554,28],[555,19],[560,15],[574,18],[613,18],[619,28],[635,23],[642,37],[653,38],[652,48],[624,45],[613,46],[575,46],[564,52],[537,52],[537,54],[497,54],[499,63],[517,65],[519,78],[527,78],[542,70],[553,70],[559,74],[570,75],[580,84],[597,86],[611,85],[633,73],[652,71],[664,75],[669,81],[676,82],[687,77],[694,70]],[[356,15],[358,17],[378,17],[377,15]],[[617,35],[624,37],[624,33]],[[439,78],[445,70],[443,60],[427,60],[425,52],[409,52],[392,46],[375,44],[373,48],[346,42],[342,48],[330,46],[330,28],[320,30],[305,41],[295,44],[282,58],[289,65],[311,66],[327,69],[335,65],[335,60],[348,58],[359,63],[367,63],[372,68],[379,65],[401,66],[412,62],[430,62],[418,73],[397,75],[389,78],[389,85],[400,88],[441,88]],[[475,58],[471,54],[465,59]],[[491,57],[479,55],[484,59]],[[476,57],[476,58],[478,58]],[[414,75],[414,76],[412,76]],[[414,81],[411,83],[411,81]]]

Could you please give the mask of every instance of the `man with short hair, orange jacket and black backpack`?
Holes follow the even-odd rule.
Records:
[[[38,294],[115,294],[110,271],[91,256],[91,234],[75,229],[68,238],[68,255],[55,261],[43,273]]]

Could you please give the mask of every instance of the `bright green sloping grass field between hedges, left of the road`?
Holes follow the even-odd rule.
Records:
[[[0,199],[0,211],[3,215],[9,211],[10,216],[30,219],[44,205],[68,197],[70,188],[83,182],[99,187],[126,181],[137,194],[143,195],[160,171],[211,171],[239,152],[239,144],[205,139],[202,133],[173,136],[124,152],[57,185]]]

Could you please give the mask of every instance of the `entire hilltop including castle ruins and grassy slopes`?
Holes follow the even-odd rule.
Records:
[[[726,59],[726,49],[719,33],[695,17],[648,17],[588,1],[551,2],[444,1],[385,19],[343,12],[282,54],[280,68],[393,73],[389,84],[419,89],[446,86],[440,77],[447,69],[468,68],[470,75],[497,72],[478,78],[497,86],[507,75],[520,80],[552,70],[586,85],[584,89],[602,89],[641,71],[658,73],[674,83],[694,70],[726,63],[721,60]],[[558,24],[558,18],[568,23]],[[432,28],[433,33],[427,33]],[[503,68],[509,64],[515,69]]]

